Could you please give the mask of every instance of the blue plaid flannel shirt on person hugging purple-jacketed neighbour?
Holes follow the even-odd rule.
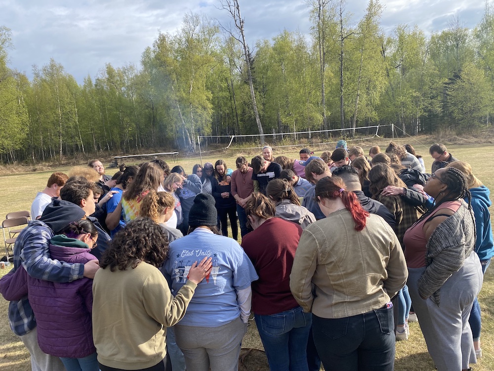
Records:
[[[14,268],[25,269],[33,278],[52,282],[71,282],[83,277],[83,264],[70,264],[49,258],[51,229],[39,220],[32,220],[19,233],[14,244]],[[11,301],[8,320],[15,334],[25,335],[36,327],[33,309],[28,297]]]

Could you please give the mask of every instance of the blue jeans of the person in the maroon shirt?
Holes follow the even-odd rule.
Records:
[[[270,371],[307,371],[307,339],[312,315],[295,307],[272,315],[255,314]]]

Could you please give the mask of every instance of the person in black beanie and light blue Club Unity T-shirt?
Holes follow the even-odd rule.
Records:
[[[176,295],[187,274],[204,256],[212,258],[210,274],[196,287],[183,319],[173,326],[187,370],[237,370],[250,314],[254,266],[233,238],[215,234],[214,197],[199,193],[189,212],[189,234],[170,243],[163,273]],[[205,351],[206,350],[206,351]]]

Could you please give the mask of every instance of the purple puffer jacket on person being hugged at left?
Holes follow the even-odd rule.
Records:
[[[67,246],[80,244],[85,245],[64,235],[55,236],[50,243],[50,257],[68,263],[96,259],[88,248]],[[38,343],[44,353],[82,358],[96,352],[91,324],[92,279],[58,283],[29,277],[28,298],[36,317]]]

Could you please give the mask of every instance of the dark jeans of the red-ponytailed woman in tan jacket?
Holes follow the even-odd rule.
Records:
[[[339,319],[312,315],[312,332],[326,370],[393,371],[393,308]]]

